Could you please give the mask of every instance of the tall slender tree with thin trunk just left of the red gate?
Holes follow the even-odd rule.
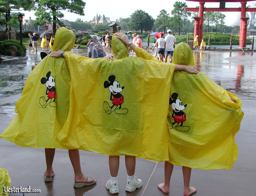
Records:
[[[173,4],[173,10],[171,14],[174,16],[174,21],[178,24],[178,34],[180,35],[180,26],[183,26],[184,19],[188,16],[191,16],[190,12],[185,12],[185,7],[187,7],[186,3],[182,3],[180,1],[176,1]]]

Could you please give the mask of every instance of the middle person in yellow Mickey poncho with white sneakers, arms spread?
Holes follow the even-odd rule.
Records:
[[[136,52],[136,58],[128,57],[128,44]],[[174,69],[192,73],[197,70],[192,66],[160,63],[145,50],[129,43],[122,33],[113,35],[112,54],[117,54],[117,59],[111,62],[65,51],[53,52],[51,56],[66,58],[73,95],[70,99],[73,109],[58,139],[70,147],[112,155],[109,157],[111,178],[106,188],[115,194],[119,191],[119,155],[125,155],[126,191],[129,192],[142,186],[142,181],[134,176],[135,156],[156,161],[166,158],[167,124],[163,117],[167,116],[168,81]],[[78,83],[79,78],[83,80]],[[159,89],[158,85],[164,88]],[[81,120],[72,123],[69,119]],[[94,145],[90,145],[92,142]]]

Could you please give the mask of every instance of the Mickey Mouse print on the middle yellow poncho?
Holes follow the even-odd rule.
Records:
[[[121,108],[122,104],[124,103],[124,96],[120,93],[123,91],[124,86],[120,87],[118,81],[115,81],[116,76],[111,75],[108,77],[109,81],[104,82],[104,88],[108,88],[111,92],[110,94],[110,101],[112,101],[112,106],[110,107],[108,102],[103,102],[103,109],[105,113],[111,114],[111,112],[115,111],[116,114],[127,114],[128,109]],[[114,106],[116,106],[114,108]],[[119,106],[119,107],[118,107]],[[114,109],[113,109],[114,108]]]

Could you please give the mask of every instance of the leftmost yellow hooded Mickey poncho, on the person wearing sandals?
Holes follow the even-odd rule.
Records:
[[[70,51],[74,43],[73,31],[60,28],[52,51]],[[16,102],[18,115],[0,137],[24,147],[67,149],[56,136],[68,116],[70,84],[65,58],[43,58],[26,79]]]

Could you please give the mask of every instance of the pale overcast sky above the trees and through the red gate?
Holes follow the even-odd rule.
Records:
[[[159,15],[160,11],[162,9],[166,10],[167,13],[171,15],[171,10],[173,9],[173,3],[175,1],[171,0],[162,0],[162,1],[156,1],[156,0],[137,0],[137,1],[124,1],[124,0],[118,0],[118,1],[112,1],[112,0],[84,0],[86,2],[86,6],[84,9],[85,16],[80,16],[77,14],[70,13],[68,11],[62,11],[64,14],[63,19],[67,19],[69,21],[75,21],[77,18],[81,18],[83,21],[90,21],[93,19],[94,16],[98,15],[105,15],[105,17],[110,17],[110,20],[115,21],[116,19],[122,17],[122,18],[128,18],[130,15],[138,9],[141,9],[145,12],[147,12],[149,15],[151,15],[154,19],[157,18],[157,15]],[[114,2],[111,4],[111,1]],[[185,0],[179,0],[182,2],[185,2],[189,8],[194,8],[196,6],[199,6],[199,2],[193,2],[193,1],[185,1]],[[130,3],[134,2],[134,3]],[[157,3],[160,2],[160,3]],[[253,7],[253,3],[256,1],[247,2],[247,6],[251,5]],[[219,3],[205,3],[205,7],[211,8],[211,7],[219,7]],[[226,3],[226,7],[233,7],[238,8],[240,7],[240,3]],[[21,11],[22,12],[22,11]],[[23,12],[22,12],[23,13]],[[25,19],[29,19],[29,16],[34,20],[35,16],[33,12],[24,12],[25,13]],[[226,25],[231,25],[234,21],[236,15],[239,12],[223,12],[226,15]],[[250,15],[250,14],[249,14]],[[234,17],[235,16],[235,17]]]

